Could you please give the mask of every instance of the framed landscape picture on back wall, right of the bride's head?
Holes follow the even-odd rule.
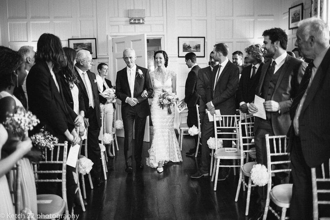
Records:
[[[205,57],[205,37],[178,37],[178,57],[184,57],[188,52]]]

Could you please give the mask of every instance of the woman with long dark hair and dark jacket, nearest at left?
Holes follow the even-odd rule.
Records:
[[[29,110],[40,120],[38,128],[45,126],[45,130],[57,137],[59,143],[69,141],[69,143],[78,144],[79,136],[75,126],[82,125],[83,118],[78,116],[65,102],[58,78],[60,68],[65,67],[66,64],[67,60],[61,40],[53,34],[42,34],[37,43],[35,65],[26,78],[26,90]],[[35,128],[33,132],[38,132],[38,128]],[[60,155],[62,154],[60,153]],[[58,169],[54,166],[58,165],[52,165],[49,169]],[[66,196],[70,212],[76,189],[73,177],[75,168],[66,166],[66,170]],[[49,178],[56,179],[56,177],[56,174],[49,174]],[[40,183],[39,190],[43,193],[56,194],[57,185]]]

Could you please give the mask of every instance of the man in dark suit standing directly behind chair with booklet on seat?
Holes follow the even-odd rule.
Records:
[[[211,83],[206,88],[206,107],[213,115],[215,110],[220,110],[222,115],[234,115],[235,108],[235,93],[239,80],[238,67],[228,60],[228,46],[220,43],[214,46],[213,57],[219,65],[213,68]],[[232,132],[231,129],[222,129],[223,132]],[[209,121],[208,117],[204,118],[202,130],[202,155],[201,165],[199,170],[190,177],[197,179],[203,176],[208,176],[208,168],[210,165],[210,150],[207,141],[214,135],[214,123]],[[232,135],[222,135],[222,138],[231,138]],[[231,147],[231,141],[223,141],[223,147]],[[223,160],[222,164],[228,165],[229,160]],[[219,180],[226,179],[229,169],[221,169]]]

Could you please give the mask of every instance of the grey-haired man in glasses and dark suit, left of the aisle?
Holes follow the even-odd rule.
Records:
[[[82,91],[82,98],[85,104],[85,127],[87,132],[87,153],[88,158],[94,163],[91,175],[96,178],[97,186],[103,183],[101,179],[101,150],[99,146],[99,133],[101,127],[101,112],[99,91],[95,74],[90,72],[93,60],[88,50],[77,52],[75,71],[79,80],[78,87]]]

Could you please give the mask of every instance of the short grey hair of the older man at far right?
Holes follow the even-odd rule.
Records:
[[[298,30],[304,37],[305,41],[310,37],[315,37],[315,42],[319,45],[326,47],[329,45],[330,35],[329,26],[320,18],[310,17],[301,20],[298,23]]]

